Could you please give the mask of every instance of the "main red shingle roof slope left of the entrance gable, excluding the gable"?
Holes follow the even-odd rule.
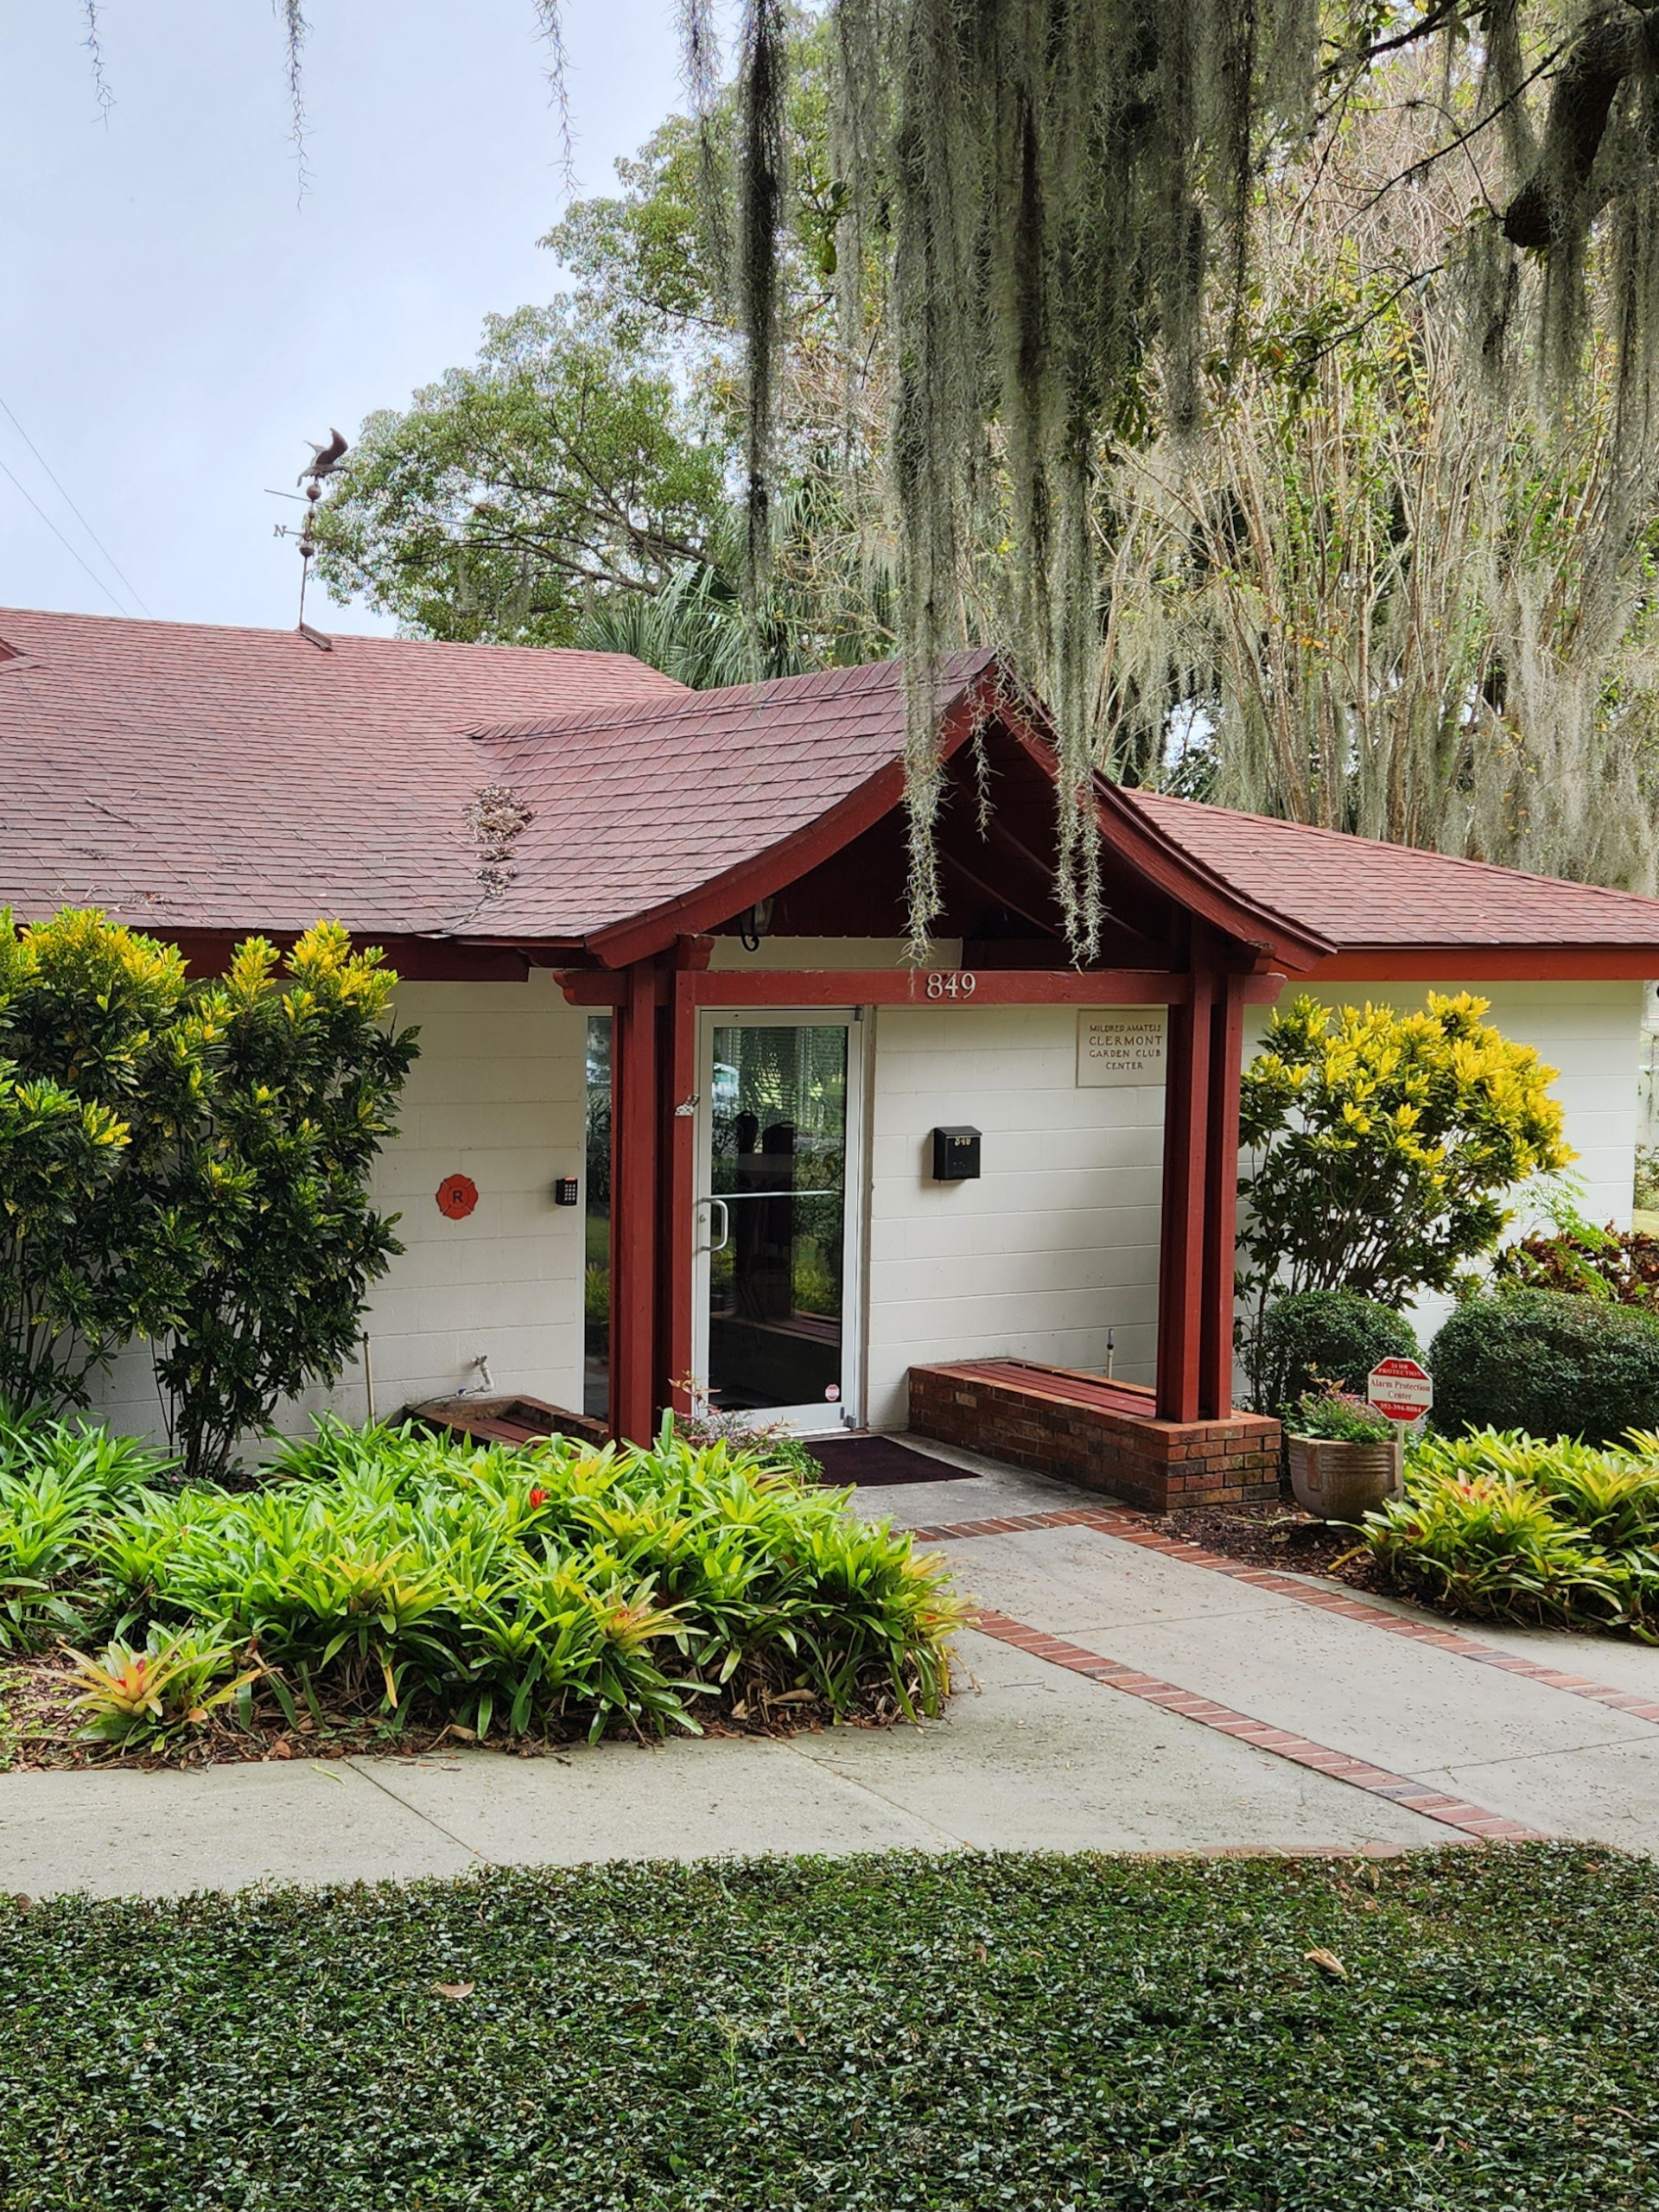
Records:
[[[476,902],[482,721],[686,697],[622,653],[0,608],[0,902],[434,931]]]

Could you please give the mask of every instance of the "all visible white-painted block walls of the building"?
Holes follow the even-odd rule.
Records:
[[[792,958],[783,958],[783,947]],[[726,951],[726,942],[721,945]],[[807,964],[783,940],[748,962]],[[843,947],[814,945],[812,964]],[[889,964],[898,947],[858,947]],[[726,964],[726,962],[723,962]],[[1420,1006],[1458,984],[1327,984],[1329,1004]],[[1637,1137],[1639,982],[1471,984],[1504,1035],[1559,1068],[1555,1095],[1593,1221],[1630,1221]],[[1294,995],[1287,993],[1287,998]],[[400,1212],[405,1254],[376,1287],[367,1329],[376,1409],[476,1387],[489,1358],[498,1391],[582,1405],[584,1212],[553,1203],[553,1181],[584,1172],[586,1013],[549,973],[520,984],[405,984],[400,1022],[422,1053],[403,1133],[376,1172],[376,1203]],[[1150,1383],[1157,1354],[1161,1086],[1077,1086],[1073,1006],[883,1006],[869,1022],[867,1405],[872,1427],[902,1427],[905,1374],[947,1358],[1015,1354]],[[1250,1009],[1245,1057],[1267,1011]],[[929,1133],[984,1133],[982,1177],[933,1183]],[[447,1175],[471,1175],[478,1210],[447,1221]],[[586,1192],[584,1192],[586,1194]],[[1526,1212],[1522,1208],[1522,1225]],[[1427,1343],[1444,1301],[1416,1316]],[[332,1405],[367,1411],[361,1369],[334,1394],[283,1409],[303,1429]],[[144,1345],[117,1360],[97,1411],[128,1433],[159,1431]]]

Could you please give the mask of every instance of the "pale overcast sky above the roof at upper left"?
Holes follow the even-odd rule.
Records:
[[[288,628],[299,555],[272,524],[299,507],[265,487],[471,358],[487,312],[560,288],[535,246],[564,204],[535,9],[307,0],[303,199],[272,0],[97,13],[106,119],[82,0],[0,0],[0,604]],[[564,15],[577,188],[606,190],[681,97],[672,7]]]

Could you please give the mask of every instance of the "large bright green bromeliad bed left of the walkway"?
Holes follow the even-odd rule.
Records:
[[[936,1712],[964,1608],[845,1498],[672,1422],[650,1451],[325,1422],[234,1491],[44,1422],[0,1475],[0,1582],[58,1745],[71,1714],[128,1750],[215,1723],[257,1752]]]

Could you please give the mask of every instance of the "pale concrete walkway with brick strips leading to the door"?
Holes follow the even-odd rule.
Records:
[[[860,1509],[949,1526],[1102,1504],[938,1455],[962,1467],[960,1482],[863,1491]],[[942,1548],[987,1613],[1064,1639],[1075,1663],[964,1635],[962,1692],[922,1730],[4,1774],[0,1887],[119,1896],[757,1851],[1400,1849],[1458,1840],[1444,1818],[1398,1801],[1436,1794],[1542,1834],[1659,1847],[1655,1721],[1097,1528]],[[1659,1701],[1659,1652],[1469,1632]],[[1086,1679],[1075,1666],[1093,1655],[1152,1688]],[[1206,1701],[1250,1739],[1188,1717]],[[1292,1739],[1312,1743],[1296,1754]],[[1310,1763],[1310,1750],[1329,1756]],[[1385,1770],[1383,1785],[1356,1783],[1360,1765]]]

